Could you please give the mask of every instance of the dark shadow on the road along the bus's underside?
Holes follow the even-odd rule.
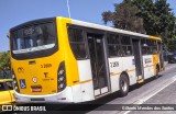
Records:
[[[162,77],[162,76],[160,76]],[[160,78],[158,77],[158,78]],[[142,84],[134,84],[130,87],[130,91],[133,91],[135,89],[141,88],[143,84],[150,83],[156,79],[155,77],[152,77],[144,81]],[[107,96],[102,96],[96,101],[90,102],[84,102],[84,103],[76,103],[76,104],[58,104],[58,103],[40,103],[40,104],[18,104],[19,106],[45,106],[46,111],[50,112],[13,112],[13,113],[21,113],[21,114],[85,114],[90,111],[100,111],[101,107],[106,107],[109,102],[121,98],[119,92],[114,92],[112,94],[109,94]],[[106,106],[105,106],[106,104]],[[109,105],[110,106],[110,105]],[[3,112],[2,114],[9,114],[8,112]]]

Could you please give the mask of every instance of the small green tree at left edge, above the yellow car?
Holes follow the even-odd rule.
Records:
[[[10,70],[10,52],[0,55],[0,72],[3,72],[3,78],[7,78],[7,71]]]

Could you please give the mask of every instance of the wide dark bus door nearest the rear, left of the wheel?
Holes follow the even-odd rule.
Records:
[[[87,34],[95,96],[109,91],[102,34]]]

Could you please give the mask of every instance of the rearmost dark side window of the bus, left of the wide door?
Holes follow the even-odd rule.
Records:
[[[86,45],[82,30],[68,27],[68,37],[75,57],[77,59],[86,58]]]

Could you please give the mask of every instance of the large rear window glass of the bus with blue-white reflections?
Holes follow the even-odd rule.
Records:
[[[12,53],[22,54],[53,48],[56,43],[54,23],[37,24],[12,32]]]

